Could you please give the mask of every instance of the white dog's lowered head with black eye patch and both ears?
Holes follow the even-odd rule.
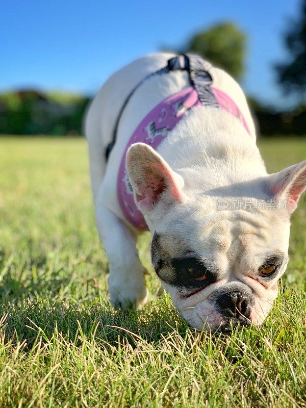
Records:
[[[183,177],[146,144],[130,147],[126,168],[153,234],[152,264],[182,316],[199,329],[260,324],[287,267],[306,161],[204,194],[184,188]]]

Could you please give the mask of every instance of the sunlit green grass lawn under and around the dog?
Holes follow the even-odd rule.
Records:
[[[306,139],[260,148],[271,172],[306,158]],[[1,138],[0,407],[306,407],[305,196],[291,231],[261,327],[199,333],[153,273],[144,309],[115,311],[85,140]]]

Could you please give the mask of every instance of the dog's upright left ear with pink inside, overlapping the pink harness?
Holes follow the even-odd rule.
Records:
[[[126,153],[126,170],[139,210],[148,215],[159,203],[183,202],[182,176],[175,173],[152,147],[132,144]]]

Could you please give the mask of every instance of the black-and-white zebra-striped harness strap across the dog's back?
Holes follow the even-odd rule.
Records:
[[[203,60],[201,57],[198,55],[188,55],[188,54],[182,54],[178,55],[176,57],[170,58],[168,60],[167,66],[159,69],[158,71],[152,72],[148,74],[145,78],[143,78],[134,89],[130,92],[129,95],[127,95],[121,109],[119,112],[119,115],[117,117],[115,127],[114,127],[114,132],[113,132],[113,138],[112,141],[108,144],[105,152],[106,160],[108,160],[110,152],[112,148],[114,147],[114,144],[116,143],[117,139],[117,133],[118,133],[118,127],[120,123],[120,119],[122,116],[122,113],[127,105],[129,103],[129,100],[131,97],[134,95],[136,90],[149,78],[154,77],[154,75],[162,75],[164,73],[168,73],[170,71],[175,71],[175,70],[180,70],[180,71],[188,71],[189,73],[189,80],[191,85],[195,88],[197,91],[199,100],[202,105],[204,106],[214,106],[218,107],[218,102],[216,100],[216,97],[211,89],[211,83],[212,83],[212,77],[208,70],[211,68],[210,63],[207,61]]]

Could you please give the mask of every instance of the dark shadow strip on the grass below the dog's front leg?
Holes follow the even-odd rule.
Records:
[[[5,316],[2,331],[6,340],[26,341],[31,348],[37,337],[45,342],[53,338],[55,331],[65,340],[82,344],[82,339],[119,344],[124,338],[133,347],[139,341],[158,342],[169,332],[184,334],[187,323],[165,299],[142,311],[116,311],[108,303],[96,303],[79,309],[64,302],[47,300],[23,300],[18,306],[0,306],[0,316]],[[171,322],[174,322],[173,326]]]

